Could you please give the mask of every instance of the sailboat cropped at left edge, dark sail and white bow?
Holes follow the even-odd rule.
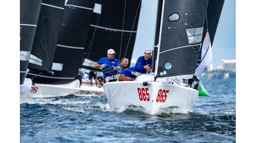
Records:
[[[26,78],[32,44],[36,33],[42,0],[20,0],[20,103],[34,95],[32,81]]]

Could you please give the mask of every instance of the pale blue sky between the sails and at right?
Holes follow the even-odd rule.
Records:
[[[143,56],[145,48],[153,50],[157,0],[142,0],[132,61]],[[136,52],[135,52],[136,51]],[[214,69],[221,60],[236,59],[236,1],[225,0],[212,45]],[[132,62],[131,61],[131,62]]]

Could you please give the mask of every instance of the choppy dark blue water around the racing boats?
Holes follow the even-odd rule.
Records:
[[[201,81],[210,97],[157,115],[99,96],[32,98],[20,104],[20,142],[236,142],[236,80]]]

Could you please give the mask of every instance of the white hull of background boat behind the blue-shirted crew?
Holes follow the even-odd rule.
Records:
[[[36,83],[34,88],[35,94],[33,97],[58,97],[58,96],[66,96],[70,94],[78,94],[78,95],[97,95],[97,96],[105,96],[105,92],[102,87],[96,86],[86,86],[81,85],[79,87],[79,80],[74,80],[71,83],[66,84],[39,84]]]

